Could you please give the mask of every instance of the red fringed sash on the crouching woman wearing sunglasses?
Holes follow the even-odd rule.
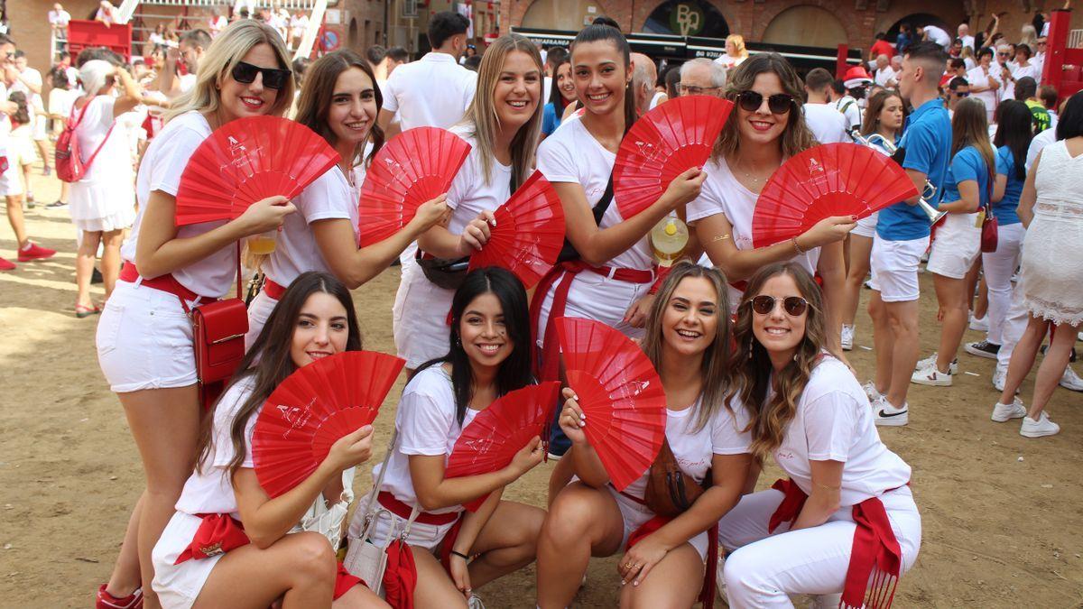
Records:
[[[906,482],[909,485],[910,482]],[[797,520],[805,501],[805,494],[796,482],[777,480],[772,489],[782,491],[785,497],[771,515],[768,532],[782,522]],[[901,488],[901,487],[896,487]],[[891,492],[896,489],[888,489]],[[870,497],[853,506],[853,546],[850,548],[850,565],[846,569],[840,609],[888,609],[895,599],[895,588],[902,572],[902,549],[895,539],[891,521],[879,497]],[[869,581],[872,580],[870,585]],[[867,588],[867,589],[866,589]]]

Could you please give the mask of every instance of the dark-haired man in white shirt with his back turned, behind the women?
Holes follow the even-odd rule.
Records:
[[[466,17],[452,11],[429,20],[432,51],[396,68],[384,86],[383,107],[377,119],[384,132],[396,113],[403,131],[415,127],[447,129],[462,118],[478,87],[478,75],[458,61],[467,48],[469,26]]]

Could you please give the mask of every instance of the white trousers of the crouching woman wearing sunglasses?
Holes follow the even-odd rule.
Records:
[[[843,507],[819,527],[790,531],[788,523],[768,534],[767,523],[783,494],[769,489],[741,497],[718,522],[719,543],[739,548],[726,558],[726,588],[733,609],[793,607],[790,594],[843,592],[853,546],[851,507]],[[880,496],[902,549],[902,572],[913,567],[922,544],[922,517],[909,487]]]

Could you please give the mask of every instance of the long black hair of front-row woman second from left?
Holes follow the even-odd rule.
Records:
[[[496,373],[496,396],[504,396],[534,383],[532,372],[534,342],[531,340],[526,288],[511,271],[499,267],[485,267],[471,271],[452,298],[452,335],[447,354],[425,362],[414,373],[416,376],[418,372],[430,366],[441,365],[444,362],[452,365],[455,417],[459,426],[462,425],[467,407],[470,405],[470,400],[473,399],[474,386],[473,368],[470,365],[469,355],[462,349],[459,326],[467,307],[483,294],[492,294],[500,301],[504,325],[508,332],[508,339],[511,341],[511,354],[500,363]]]

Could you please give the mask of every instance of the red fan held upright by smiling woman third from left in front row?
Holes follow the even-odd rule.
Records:
[[[666,435],[666,394],[651,361],[628,337],[591,320],[560,318],[567,385],[586,415],[584,431],[610,481],[623,491],[643,475]]]

